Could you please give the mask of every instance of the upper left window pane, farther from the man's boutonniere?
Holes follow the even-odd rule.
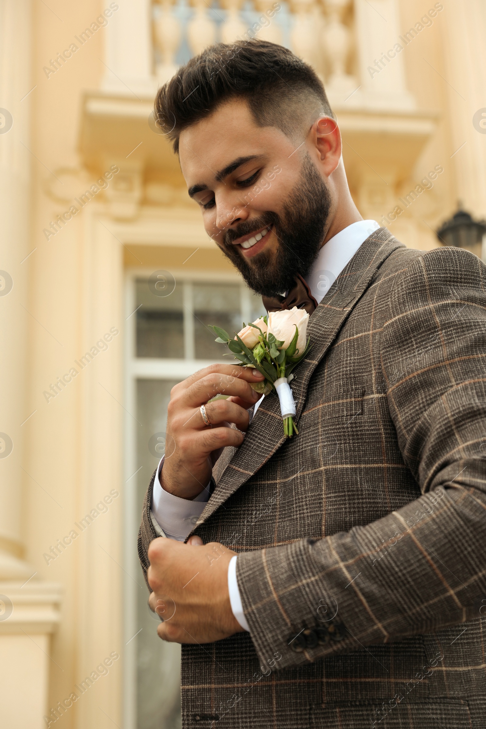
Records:
[[[169,296],[154,295],[146,280],[136,281],[138,357],[184,357],[182,285]]]

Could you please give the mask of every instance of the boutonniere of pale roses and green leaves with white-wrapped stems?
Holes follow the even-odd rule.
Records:
[[[310,349],[307,339],[309,314],[294,306],[283,311],[271,311],[244,326],[233,339],[221,329],[211,327],[217,335],[216,342],[227,344],[242,367],[256,367],[264,375],[264,381],[252,384],[257,392],[269,394],[275,389],[280,400],[283,432],[286,437],[299,431],[294,423],[295,402],[289,386],[294,367]]]

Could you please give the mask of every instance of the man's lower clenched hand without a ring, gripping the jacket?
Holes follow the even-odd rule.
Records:
[[[199,537],[182,544],[157,537],[149,546],[149,607],[157,634],[172,643],[212,643],[243,631],[232,614],[228,565],[235,552]]]

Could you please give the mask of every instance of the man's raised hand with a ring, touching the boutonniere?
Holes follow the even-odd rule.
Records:
[[[249,383],[263,379],[251,367],[211,364],[173,387],[167,408],[165,460],[160,470],[165,491],[182,499],[194,499],[203,491],[222,449],[243,443],[248,408],[262,397]],[[230,397],[208,403],[218,394]],[[210,426],[203,421],[201,405],[205,405]],[[230,427],[232,423],[238,430]]]

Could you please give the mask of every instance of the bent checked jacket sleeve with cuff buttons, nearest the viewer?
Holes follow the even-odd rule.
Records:
[[[484,608],[486,267],[436,249],[388,295],[381,375],[421,496],[348,533],[238,556],[251,638],[265,663],[281,653],[275,668],[431,633]]]

